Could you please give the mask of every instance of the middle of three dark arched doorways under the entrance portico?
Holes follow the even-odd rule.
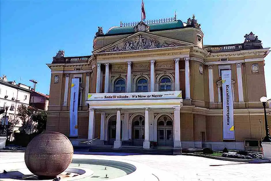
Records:
[[[142,115],[135,116],[132,121],[132,139],[133,145],[143,146],[145,118]]]

